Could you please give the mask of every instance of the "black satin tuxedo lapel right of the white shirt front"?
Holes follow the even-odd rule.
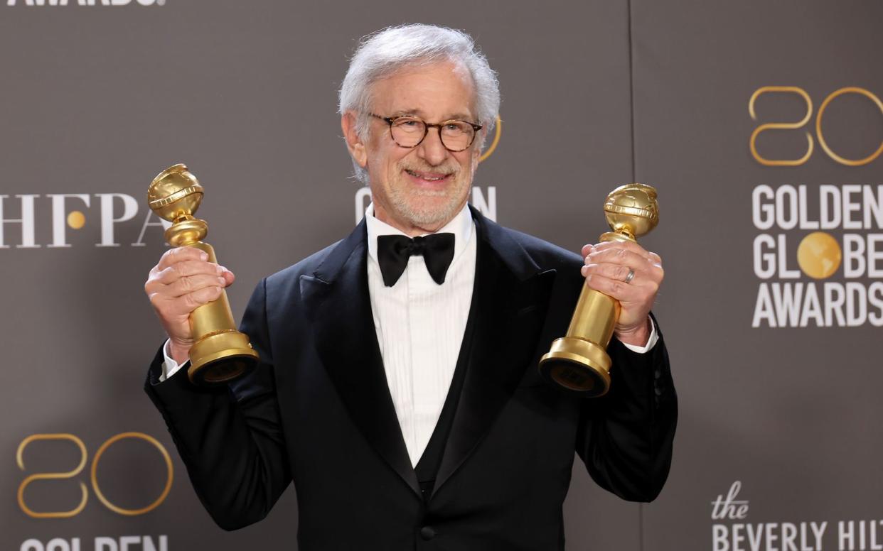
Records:
[[[555,270],[541,272],[507,230],[472,210],[478,232],[471,335],[459,361],[466,369],[434,492],[457,471],[491,428],[532,363]]]

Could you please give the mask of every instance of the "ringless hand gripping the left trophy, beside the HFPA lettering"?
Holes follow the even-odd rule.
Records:
[[[169,335],[169,354],[183,364],[193,344],[190,313],[221,296],[236,279],[233,272],[208,262],[208,255],[193,247],[167,250],[147,276],[144,292]]]

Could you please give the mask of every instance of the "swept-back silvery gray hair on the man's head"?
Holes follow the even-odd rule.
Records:
[[[404,66],[431,65],[449,61],[465,68],[475,89],[476,115],[488,132],[494,130],[500,111],[500,83],[487,64],[487,57],[475,48],[469,34],[443,26],[403,25],[368,34],[359,41],[340,87],[341,115],[355,111],[358,137],[367,138],[372,86]],[[477,147],[484,138],[479,134]],[[356,178],[367,183],[367,173],[353,160]]]

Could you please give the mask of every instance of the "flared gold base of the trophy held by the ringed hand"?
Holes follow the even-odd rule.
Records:
[[[563,337],[540,358],[540,374],[566,391],[603,396],[610,388],[610,356],[595,343]]]

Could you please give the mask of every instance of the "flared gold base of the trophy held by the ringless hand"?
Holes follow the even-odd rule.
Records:
[[[190,349],[190,382],[200,385],[228,383],[258,364],[258,353],[245,333],[218,332],[196,341]]]

